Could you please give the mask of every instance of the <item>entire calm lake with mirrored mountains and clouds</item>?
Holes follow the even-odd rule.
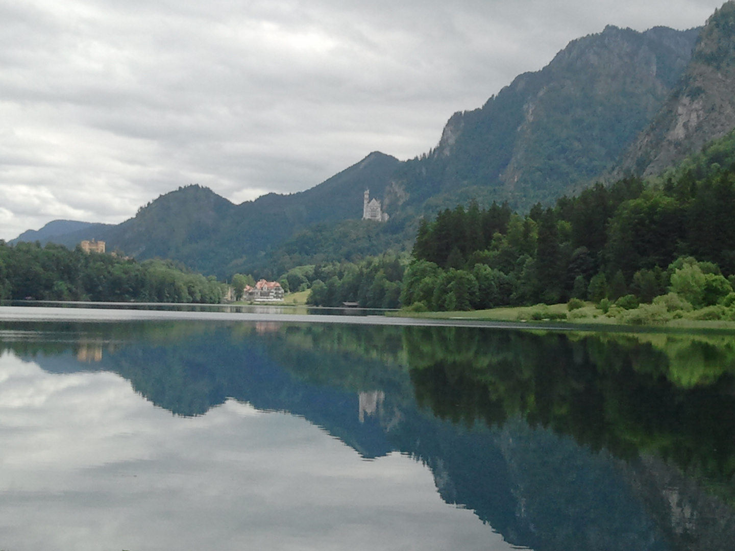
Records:
[[[730,334],[28,310],[0,322],[2,550],[735,539]]]

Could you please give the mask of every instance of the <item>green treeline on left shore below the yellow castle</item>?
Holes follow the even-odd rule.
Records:
[[[174,266],[0,241],[0,299],[220,303],[223,284]]]

